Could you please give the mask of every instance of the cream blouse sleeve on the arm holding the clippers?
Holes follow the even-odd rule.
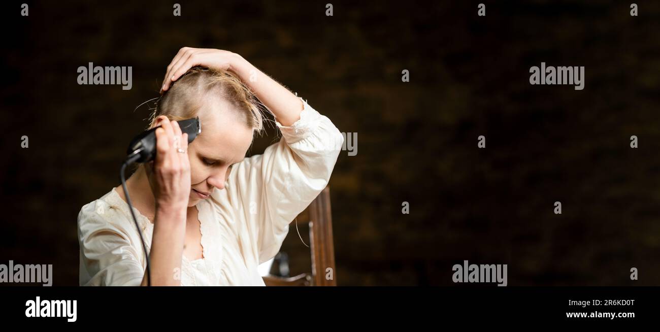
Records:
[[[135,234],[135,229],[127,229],[128,224],[117,220],[123,217],[103,201],[82,207],[78,215],[81,286],[140,286],[142,283],[145,268],[135,249],[136,244],[137,248],[142,248],[141,242],[136,243],[139,235]]]

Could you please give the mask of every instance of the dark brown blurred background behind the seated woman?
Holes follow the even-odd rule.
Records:
[[[119,184],[152,105],[134,109],[191,46],[240,53],[358,134],[329,184],[339,285],[461,286],[465,259],[508,264],[510,286],[660,284],[657,1],[22,2],[2,11],[0,263],[78,284],[77,215]],[[77,84],[89,62],[132,66],[133,87]],[[530,85],[541,62],[585,66],[584,90]],[[310,271],[295,224],[282,251]]]

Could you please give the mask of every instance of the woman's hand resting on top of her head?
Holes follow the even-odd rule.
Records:
[[[182,48],[176,53],[170,65],[167,66],[167,73],[160,93],[170,88],[170,84],[181,77],[188,69],[195,66],[209,67],[211,69],[222,69],[231,71],[232,64],[236,63],[240,55],[215,48]]]

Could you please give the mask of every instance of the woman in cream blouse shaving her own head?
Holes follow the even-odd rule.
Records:
[[[260,285],[288,224],[327,185],[343,136],[302,98],[230,51],[182,48],[152,115],[156,159],[78,216],[81,285]],[[263,128],[256,96],[282,139],[244,158]],[[177,120],[199,116],[187,145]]]

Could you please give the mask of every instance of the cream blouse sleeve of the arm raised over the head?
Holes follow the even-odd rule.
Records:
[[[227,181],[257,244],[259,264],[277,254],[289,223],[325,188],[344,143],[330,119],[300,99],[300,119],[288,127],[276,121],[282,139],[234,165]]]

